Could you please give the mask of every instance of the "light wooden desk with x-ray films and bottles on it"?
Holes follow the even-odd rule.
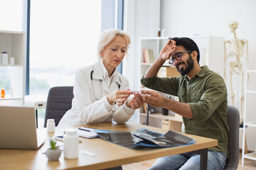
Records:
[[[82,125],[79,125],[80,127]],[[146,125],[138,125],[135,123],[96,123],[85,125],[89,128],[119,131],[135,131],[140,128],[148,128],[158,132],[167,132],[167,130],[154,128]],[[46,135],[46,129],[41,129],[40,134]],[[62,135],[63,129],[57,129],[54,135]],[[48,136],[53,133],[48,133]],[[199,150],[205,159],[207,165],[207,148],[218,145],[218,140],[206,137],[198,137],[188,135],[196,140],[193,145],[183,147],[166,147],[158,149],[128,149],[119,145],[114,145],[100,138],[86,139],[80,137],[82,143],[79,144],[78,159],[64,159],[62,153],[58,162],[48,162],[44,152],[48,149],[48,143],[44,144],[38,150],[22,150],[22,149],[0,149],[0,169],[107,169],[123,164],[131,164],[134,162],[142,162],[149,159],[164,157],[171,154],[180,154],[183,152],[191,152]],[[60,144],[63,145],[62,142]],[[90,157],[82,154],[81,151],[96,154]],[[206,154],[206,155],[205,155]],[[205,157],[206,156],[206,157]],[[203,166],[201,166],[203,167]]]

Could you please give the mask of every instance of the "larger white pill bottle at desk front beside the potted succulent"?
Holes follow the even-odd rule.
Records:
[[[77,131],[73,128],[65,130],[64,135],[64,157],[65,159],[78,158],[79,137]]]

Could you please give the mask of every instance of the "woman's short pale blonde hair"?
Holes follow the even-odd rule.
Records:
[[[102,31],[100,38],[98,40],[98,44],[97,44],[97,56],[100,56],[100,52],[102,52],[102,50],[104,50],[104,48],[106,47],[106,45],[108,45],[117,35],[122,36],[126,42],[126,47],[128,51],[129,48],[129,44],[131,43],[130,41],[130,37],[127,33],[125,33],[122,30],[117,30],[117,29],[109,29],[109,30],[104,30]]]

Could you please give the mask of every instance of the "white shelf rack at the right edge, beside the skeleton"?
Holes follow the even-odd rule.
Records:
[[[244,159],[245,158],[246,159],[252,159],[252,160],[256,161],[256,150],[255,150],[255,152],[245,154],[245,134],[246,134],[246,131],[249,128],[256,128],[256,118],[248,118],[248,115],[250,116],[254,113],[250,113],[249,111],[247,111],[248,94],[251,94],[253,96],[255,96],[255,94],[256,94],[256,90],[249,90],[249,88],[248,88],[249,73],[250,73],[250,79],[252,79],[251,74],[256,74],[256,70],[247,69],[246,72],[245,72],[245,104],[244,104],[244,116],[243,116],[244,124],[243,124],[243,128],[242,128],[242,130],[243,130],[243,133],[242,133],[242,165],[244,164]],[[252,86],[253,86],[253,84],[252,84]],[[255,111],[255,110],[253,109],[253,111]],[[250,120],[250,121],[247,121],[247,120]],[[255,135],[252,135],[252,136],[255,137]],[[247,137],[249,137],[249,136],[247,136]]]

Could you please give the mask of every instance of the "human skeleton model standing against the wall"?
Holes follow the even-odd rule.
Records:
[[[235,56],[235,62],[230,62],[230,98],[232,100],[232,105],[234,106],[234,98],[235,98],[235,94],[233,91],[233,81],[232,81],[232,77],[233,74],[238,74],[241,77],[241,98],[240,98],[240,123],[243,122],[242,118],[243,118],[243,102],[244,102],[244,93],[243,93],[243,77],[244,77],[244,72],[242,71],[242,63],[240,62],[240,57],[243,57],[245,50],[244,47],[246,45],[246,51],[247,51],[247,55],[246,55],[246,60],[248,63],[248,40],[241,40],[238,39],[236,34],[235,34],[235,30],[238,28],[238,21],[232,21],[230,22],[230,24],[228,25],[230,28],[230,32],[234,33],[234,39],[233,40],[225,40],[224,41],[224,50],[225,50],[225,54],[224,54],[224,79],[226,80],[226,62],[227,62],[227,57],[233,57]],[[228,45],[228,55],[226,55],[226,45]]]

